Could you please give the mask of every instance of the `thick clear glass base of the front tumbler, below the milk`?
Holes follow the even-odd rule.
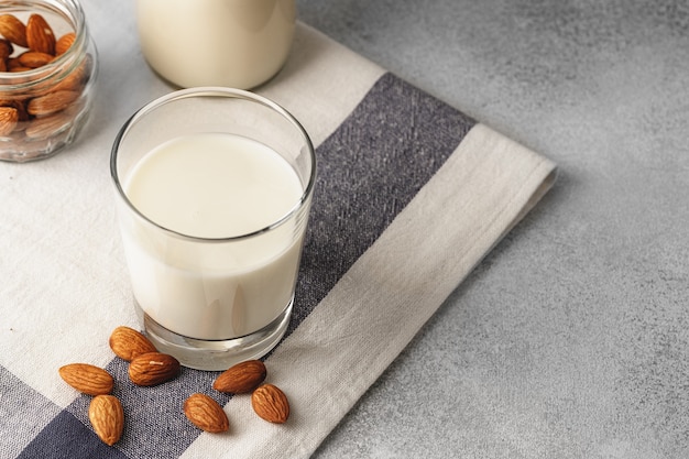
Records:
[[[158,352],[168,353],[184,367],[206,371],[225,371],[236,363],[260,359],[282,339],[289,325],[294,298],[272,323],[239,338],[203,340],[175,334],[153,320],[134,300],[134,308],[147,338]]]

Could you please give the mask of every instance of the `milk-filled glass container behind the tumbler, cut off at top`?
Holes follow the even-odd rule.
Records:
[[[289,54],[295,0],[136,0],[141,51],[174,85],[250,89]]]

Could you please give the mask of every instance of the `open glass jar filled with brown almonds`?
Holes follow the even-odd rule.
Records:
[[[50,157],[86,123],[98,55],[76,0],[0,3],[0,160]]]

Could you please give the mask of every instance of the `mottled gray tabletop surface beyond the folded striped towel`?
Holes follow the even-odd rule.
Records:
[[[689,457],[689,3],[298,0],[555,160],[316,457]]]

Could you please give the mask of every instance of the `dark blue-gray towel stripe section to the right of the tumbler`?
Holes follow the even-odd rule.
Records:
[[[294,330],[430,179],[475,121],[383,75],[317,149]]]

